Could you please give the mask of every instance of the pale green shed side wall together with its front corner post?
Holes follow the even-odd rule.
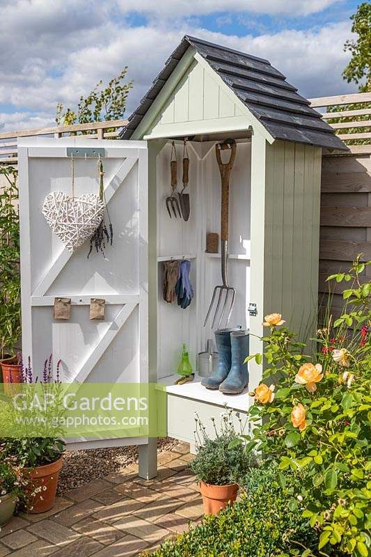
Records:
[[[262,320],[281,313],[287,327],[308,340],[317,322],[319,203],[322,148],[252,138],[251,354],[262,349]],[[253,389],[260,368],[250,363]]]

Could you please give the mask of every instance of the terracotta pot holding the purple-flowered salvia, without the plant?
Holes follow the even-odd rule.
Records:
[[[46,512],[54,507],[62,464],[63,458],[61,457],[52,464],[32,469],[24,468],[24,474],[30,480],[27,488],[27,492],[29,492],[27,508],[31,514],[37,515],[39,512]]]

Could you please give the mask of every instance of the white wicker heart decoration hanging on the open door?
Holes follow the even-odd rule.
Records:
[[[104,203],[94,194],[72,198],[63,191],[52,191],[44,200],[42,214],[54,234],[73,252],[100,225]]]

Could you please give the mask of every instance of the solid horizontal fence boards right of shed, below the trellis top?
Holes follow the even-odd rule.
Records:
[[[365,155],[322,157],[321,190],[319,303],[324,306],[329,274],[348,269],[358,253],[371,260],[371,146]],[[365,278],[370,276],[371,268],[366,267]],[[333,286],[337,315],[344,286]]]

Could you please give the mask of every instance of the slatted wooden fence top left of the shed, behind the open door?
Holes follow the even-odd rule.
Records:
[[[70,126],[41,127],[0,133],[0,164],[17,164],[17,138],[30,136],[65,137],[84,134],[85,139],[115,139],[127,120],[109,120]]]

